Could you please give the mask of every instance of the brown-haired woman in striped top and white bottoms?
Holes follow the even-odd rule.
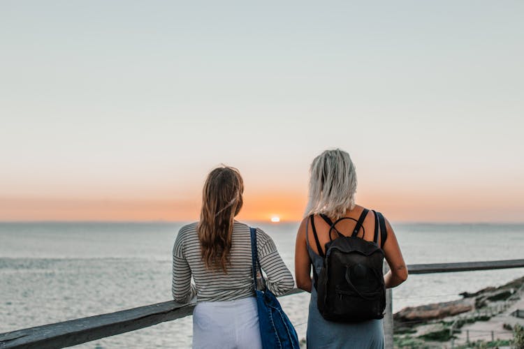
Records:
[[[249,226],[235,221],[243,191],[238,170],[212,170],[203,188],[200,221],[184,225],[175,240],[173,298],[180,303],[197,298],[193,348],[261,348]],[[268,289],[275,295],[291,290],[293,276],[275,243],[259,228],[256,239]]]

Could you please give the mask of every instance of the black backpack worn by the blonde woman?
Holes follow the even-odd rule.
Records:
[[[386,289],[382,272],[384,251],[381,247],[384,246],[387,238],[386,223],[382,214],[373,211],[375,217],[373,242],[357,237],[368,211],[364,209],[349,237],[342,235],[335,225],[342,219],[356,221],[354,218],[342,217],[333,223],[330,218],[321,215],[321,218],[330,225],[330,242],[326,244],[326,253],[323,253],[313,218],[310,216],[316,248],[323,258],[323,267],[319,275],[316,275],[313,268],[318,294],[317,306],[326,320],[360,322],[384,318]],[[378,245],[379,227],[381,246]],[[337,233],[335,239],[331,239],[332,230]]]

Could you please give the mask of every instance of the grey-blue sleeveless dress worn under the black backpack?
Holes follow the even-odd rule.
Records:
[[[311,249],[307,234],[306,225],[307,253],[310,255],[316,274],[320,274],[323,259]],[[356,323],[324,320],[316,307],[316,290],[313,286],[311,289],[310,315],[307,318],[306,342],[307,348],[310,349],[382,349],[384,348],[384,327],[382,319]]]

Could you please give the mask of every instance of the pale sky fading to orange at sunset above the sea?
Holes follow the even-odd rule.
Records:
[[[0,221],[298,221],[349,152],[390,221],[524,222],[522,1],[0,2]]]

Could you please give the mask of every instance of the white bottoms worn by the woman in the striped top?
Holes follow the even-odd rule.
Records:
[[[196,304],[193,348],[261,349],[255,297]]]

